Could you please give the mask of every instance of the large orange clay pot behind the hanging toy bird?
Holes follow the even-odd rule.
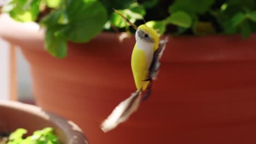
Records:
[[[21,46],[36,103],[72,119],[91,143],[256,142],[256,35],[170,38],[153,92],[129,121],[103,133],[100,123],[134,92],[134,38],[102,33],[68,44],[68,56],[43,50],[43,32],[0,20],[0,35]],[[10,27],[11,26],[11,27]]]

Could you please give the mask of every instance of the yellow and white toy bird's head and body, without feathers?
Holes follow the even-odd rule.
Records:
[[[145,37],[145,35],[147,37]],[[158,33],[146,25],[141,25],[135,34],[136,44],[132,51],[131,67],[137,90],[145,90],[149,81],[149,68],[154,52],[158,49]]]

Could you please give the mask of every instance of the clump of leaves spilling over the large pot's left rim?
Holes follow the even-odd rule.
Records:
[[[3,11],[14,20],[37,21],[45,27],[45,48],[59,58],[67,55],[68,40],[86,43],[107,21],[106,8],[96,0],[10,0]]]

